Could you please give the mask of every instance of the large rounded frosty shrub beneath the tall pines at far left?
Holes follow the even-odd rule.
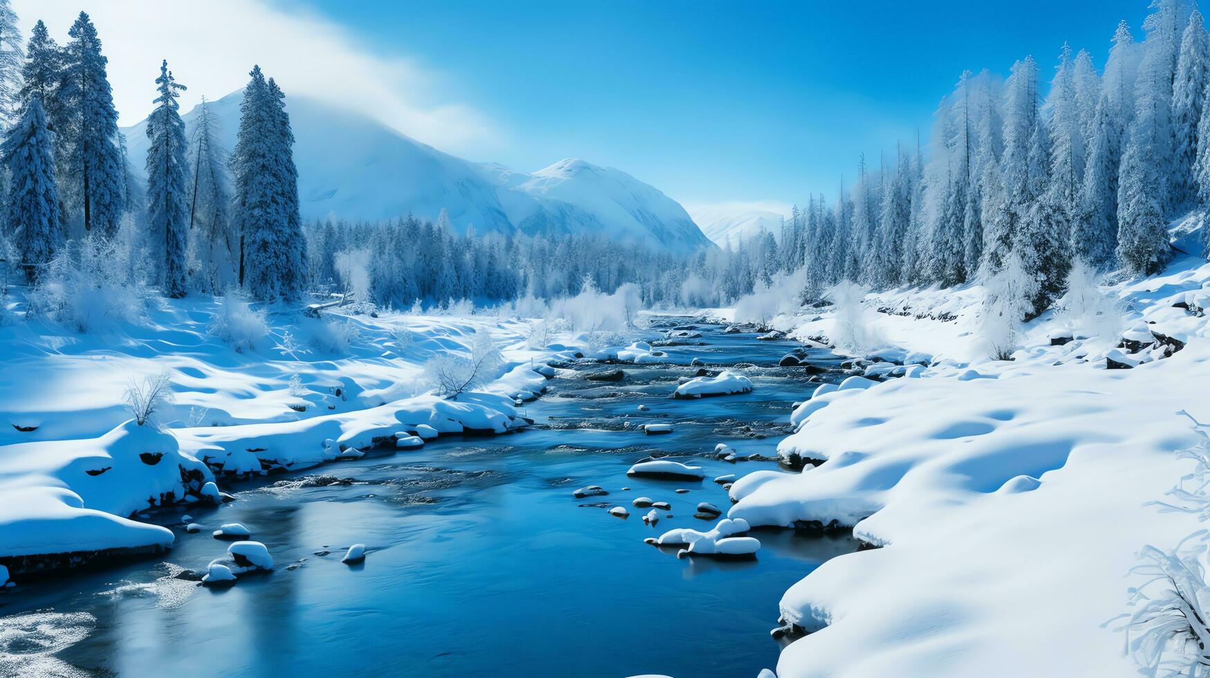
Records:
[[[79,332],[138,321],[150,298],[142,271],[132,268],[138,260],[120,240],[93,234],[69,241],[39,276],[29,295],[29,314]]]

